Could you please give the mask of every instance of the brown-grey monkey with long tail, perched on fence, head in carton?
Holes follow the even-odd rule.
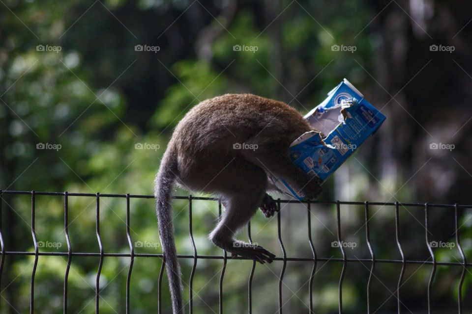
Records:
[[[309,199],[321,193],[319,178],[304,173],[289,159],[290,144],[307,131],[312,128],[294,108],[250,94],[203,101],[178,123],[155,181],[159,236],[174,314],[184,313],[170,206],[174,184],[213,193],[221,200],[226,211],[209,235],[216,246],[233,255],[272,262],[275,255],[236,240],[234,234],[258,207],[267,217],[276,210],[266,194],[276,189],[269,186],[267,174],[283,177]],[[235,149],[236,143],[255,144],[257,149]]]

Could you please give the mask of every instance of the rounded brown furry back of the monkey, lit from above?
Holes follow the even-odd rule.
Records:
[[[169,147],[179,164],[222,152],[240,155],[234,144],[289,148],[299,135],[312,130],[291,106],[251,94],[226,94],[193,107],[178,123]]]

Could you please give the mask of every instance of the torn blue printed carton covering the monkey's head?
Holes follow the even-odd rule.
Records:
[[[345,78],[333,88],[323,103],[305,115],[310,131],[290,146],[291,160],[304,172],[320,177],[323,183],[385,121],[385,116],[364,99]],[[281,191],[303,200],[283,178],[269,177]]]

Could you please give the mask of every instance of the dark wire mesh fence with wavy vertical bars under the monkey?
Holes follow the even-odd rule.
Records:
[[[6,251],[5,249],[5,244],[4,244],[4,235],[2,232],[2,195],[3,194],[16,194],[16,195],[30,195],[31,197],[31,236],[32,236],[32,242],[34,244],[34,252],[27,252],[27,251]],[[38,241],[36,238],[36,231],[35,231],[35,197],[36,195],[49,195],[49,196],[63,196],[63,202],[64,202],[64,231],[65,231],[65,239],[67,242],[67,252],[39,252],[39,246],[38,246]],[[69,197],[94,197],[96,199],[96,237],[98,241],[98,246],[100,249],[99,253],[90,253],[90,252],[75,252],[72,250],[71,244],[70,244],[70,238],[69,238],[69,233],[68,233],[68,199]],[[129,244],[129,249],[130,253],[105,253],[105,250],[102,245],[102,240],[100,238],[100,198],[125,198],[126,199],[126,235],[127,235],[127,240]],[[1,276],[3,273],[3,264],[5,257],[8,255],[11,256],[34,256],[34,264],[32,268],[32,273],[31,273],[31,280],[30,280],[30,296],[29,296],[29,312],[32,314],[34,313],[34,278],[36,274],[36,266],[38,263],[38,259],[40,256],[67,256],[67,268],[65,271],[64,275],[64,283],[63,283],[63,313],[67,313],[67,299],[68,299],[68,288],[67,288],[67,282],[68,282],[68,275],[69,275],[69,269],[70,265],[72,262],[72,257],[73,256],[89,256],[89,257],[99,257],[99,263],[98,263],[98,270],[96,274],[96,282],[95,282],[95,312],[99,313],[99,296],[100,296],[100,272],[103,264],[103,260],[106,257],[128,257],[130,259],[130,264],[129,264],[129,269],[127,273],[127,278],[126,278],[126,313],[130,313],[130,306],[129,306],[129,294],[130,294],[130,281],[131,281],[131,276],[132,276],[132,271],[133,271],[133,262],[134,259],[137,257],[151,257],[151,258],[158,258],[158,259],[163,259],[162,254],[147,254],[147,253],[135,253],[134,252],[134,247],[133,247],[133,242],[131,239],[130,235],[130,199],[131,198],[141,198],[141,199],[152,199],[154,198],[152,195],[130,195],[130,194],[92,194],[92,193],[68,193],[68,192],[36,192],[36,191],[9,191],[9,190],[0,190],[0,245],[1,245],[1,260],[0,260],[0,283],[1,283]],[[193,238],[193,233],[192,233],[192,201],[193,200],[205,200],[205,201],[218,201],[215,198],[207,198],[207,197],[192,197],[191,195],[188,197],[174,197],[175,199],[188,199],[188,217],[189,217],[189,236],[193,248],[193,255],[178,255],[178,258],[182,259],[193,259],[193,267],[190,273],[190,281],[188,283],[189,287],[189,312],[193,313],[193,296],[194,296],[194,291],[193,291],[193,278],[195,274],[195,269],[197,266],[197,261],[199,259],[211,259],[211,260],[222,260],[223,265],[221,269],[221,276],[219,280],[219,313],[222,314],[223,311],[223,278],[225,276],[225,269],[227,265],[227,261],[229,259],[232,260],[242,260],[243,258],[240,257],[228,257],[226,252],[223,252],[222,256],[214,256],[214,255],[198,255],[197,254],[197,248],[195,246],[195,241]],[[292,201],[292,200],[277,200],[277,207],[280,209],[281,204],[284,203],[297,203],[299,204],[300,202],[298,201]],[[282,265],[282,270],[279,276],[279,282],[278,282],[278,312],[281,314],[282,313],[282,284],[283,284],[283,279],[284,279],[284,274],[286,270],[286,265],[287,262],[289,261],[299,261],[299,262],[313,262],[313,268],[310,274],[309,278],[309,285],[308,285],[308,293],[309,293],[309,309],[307,309],[307,312],[309,313],[315,313],[315,310],[313,309],[313,281],[314,281],[314,275],[315,271],[317,269],[317,263],[318,262],[334,262],[334,263],[342,263],[342,271],[341,271],[341,276],[339,278],[339,288],[338,288],[338,300],[339,300],[339,313],[343,313],[343,299],[342,299],[342,289],[343,289],[343,280],[345,277],[346,273],[346,268],[348,263],[363,263],[363,262],[369,262],[371,264],[370,268],[370,273],[369,273],[369,278],[367,282],[367,287],[365,290],[365,295],[367,299],[367,313],[371,313],[371,283],[372,283],[372,278],[374,276],[374,271],[378,265],[381,264],[386,264],[386,263],[397,263],[397,264],[402,264],[401,272],[398,277],[398,283],[397,283],[397,289],[394,292],[396,294],[397,298],[397,311],[398,313],[401,313],[402,311],[402,302],[401,302],[401,286],[403,282],[403,275],[405,273],[405,267],[407,264],[420,264],[420,265],[431,265],[432,270],[428,282],[428,287],[427,287],[427,312],[432,313],[433,312],[433,300],[432,300],[432,284],[433,280],[435,278],[435,273],[436,273],[436,267],[438,265],[444,265],[444,266],[456,266],[462,268],[459,284],[457,287],[457,312],[461,314],[463,312],[462,310],[462,285],[464,283],[464,278],[466,275],[466,271],[468,270],[467,267],[472,266],[472,263],[468,263],[466,260],[466,256],[464,255],[464,251],[462,249],[461,243],[460,243],[460,235],[459,235],[459,225],[458,225],[458,209],[471,209],[472,205],[446,205],[446,204],[419,204],[419,203],[399,203],[399,202],[394,202],[394,203],[381,203],[381,202],[341,202],[341,201],[332,201],[332,202],[325,202],[325,201],[311,201],[311,202],[301,202],[306,205],[306,210],[307,210],[307,221],[308,221],[308,235],[307,239],[309,241],[311,251],[313,254],[312,258],[297,258],[297,257],[289,257],[286,254],[286,250],[284,247],[284,243],[282,241],[281,237],[281,219],[280,219],[280,210],[277,213],[277,230],[278,230],[278,240],[279,244],[282,250],[282,257],[275,258],[275,261],[283,263]],[[312,240],[312,235],[311,235],[311,205],[312,204],[324,204],[324,205],[333,205],[336,208],[336,226],[337,226],[337,243],[338,247],[340,249],[340,252],[342,254],[342,258],[322,258],[318,257],[315,251],[315,246],[313,244]],[[370,252],[370,259],[349,259],[346,256],[346,252],[343,246],[343,236],[341,234],[341,219],[340,219],[340,208],[342,205],[361,205],[364,207],[364,212],[365,212],[365,235],[366,235],[366,245],[369,249]],[[398,246],[398,251],[401,255],[401,260],[395,260],[395,259],[376,259],[374,251],[371,246],[370,242],[370,231],[369,231],[369,207],[370,206],[386,206],[386,207],[392,207],[395,210],[395,230],[396,230],[396,243]],[[405,207],[420,207],[424,209],[424,219],[425,219],[425,244],[426,247],[429,251],[430,258],[428,260],[407,260],[405,258],[405,254],[402,249],[402,244],[400,243],[400,219],[399,219],[399,207],[400,206],[405,206]],[[218,202],[218,208],[219,208],[219,214],[221,215],[221,203]],[[435,254],[433,252],[433,249],[431,247],[431,241],[430,241],[430,223],[429,223],[429,211],[431,208],[444,208],[444,209],[451,209],[454,211],[454,230],[455,230],[455,245],[457,246],[460,255],[462,257],[462,262],[437,262]],[[156,225],[157,226],[157,225]],[[157,227],[156,227],[157,228]],[[248,238],[249,241],[252,242],[251,238],[251,225],[250,223],[248,224]],[[253,262],[251,272],[249,274],[249,281],[248,281],[248,288],[247,288],[247,293],[248,293],[248,313],[252,313],[252,281],[253,281],[253,275],[256,267],[256,262]],[[162,278],[163,278],[163,273],[164,273],[164,268],[165,264],[162,263],[162,267],[159,272],[159,278],[158,278],[158,313],[162,313],[162,300],[161,300],[161,292],[162,292]],[[1,287],[0,287],[1,289]]]

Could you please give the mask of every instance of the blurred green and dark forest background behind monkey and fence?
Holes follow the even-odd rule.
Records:
[[[383,127],[324,184],[320,199],[471,204],[472,3],[440,0],[1,0],[0,187],[4,190],[152,194],[153,178],[173,128],[202,100],[253,93],[300,112],[324,100],[348,78],[387,116]],[[240,47],[241,49],[238,49]],[[437,144],[435,146],[435,144]],[[440,145],[441,144],[441,145]],[[142,149],[144,148],[144,149]],[[447,148],[447,149],[445,149]],[[188,195],[178,190],[177,195]],[[280,196],[285,198],[285,196]],[[101,199],[105,252],[129,253],[125,200]],[[188,202],[175,201],[178,251],[192,254]],[[216,202],[195,202],[199,254],[221,255],[207,240]],[[98,252],[93,198],[69,199],[72,250]],[[460,210],[466,256],[472,260],[472,214]],[[342,233],[355,243],[348,258],[370,258],[363,207],[341,208]],[[372,207],[371,241],[377,258],[400,259],[394,210]],[[287,255],[311,257],[307,214],[282,210]],[[428,260],[424,210],[400,208],[407,259]],[[431,239],[454,243],[453,211],[431,209]],[[160,253],[153,200],[131,201],[137,253]],[[252,222],[253,240],[281,256],[276,219]],[[63,198],[37,196],[40,251],[66,251]],[[7,251],[34,251],[30,197],[2,196]],[[332,206],[312,207],[318,257],[340,258]],[[246,239],[245,231],[239,238]],[[141,247],[140,247],[141,246]],[[451,246],[451,245],[449,245]],[[457,247],[436,248],[438,261],[462,261]],[[6,256],[0,312],[27,313],[32,257]],[[188,282],[193,260],[181,260]],[[98,258],[74,257],[69,313],[94,312]],[[100,313],[124,313],[129,258],[106,258]],[[137,258],[131,312],[156,313],[160,259]],[[218,312],[222,262],[199,260],[194,313]],[[229,261],[223,281],[227,313],[247,313],[252,262]],[[312,262],[288,262],[286,313],[307,313]],[[40,257],[35,313],[62,313],[64,257]],[[253,313],[276,313],[281,262],[256,266]],[[371,313],[396,313],[401,265],[378,266]],[[370,262],[349,263],[344,311],[366,313]],[[436,313],[457,313],[460,267],[438,266]],[[464,308],[472,309],[466,272]],[[316,313],[337,313],[341,263],[319,262],[313,282]],[[430,265],[406,267],[403,313],[426,313]],[[408,280],[407,280],[408,279]],[[163,281],[163,312],[170,313]],[[187,291],[187,286],[186,291]],[[188,292],[185,295],[188,300]],[[465,312],[465,313],[468,313]]]

